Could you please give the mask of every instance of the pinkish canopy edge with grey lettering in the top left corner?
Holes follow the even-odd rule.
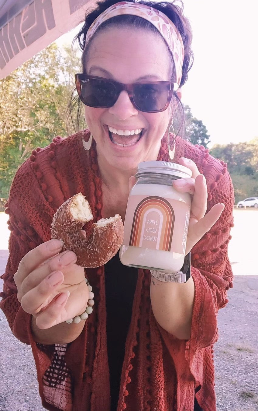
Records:
[[[93,0],[0,0],[0,78],[84,21]]]

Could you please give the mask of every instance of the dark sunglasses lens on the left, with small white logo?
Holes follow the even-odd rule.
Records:
[[[81,80],[82,102],[91,107],[111,107],[116,100],[116,88],[113,83],[102,79]]]

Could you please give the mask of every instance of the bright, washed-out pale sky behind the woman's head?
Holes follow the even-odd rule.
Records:
[[[258,137],[257,0],[185,0],[184,5],[195,60],[183,103],[203,120],[210,147]],[[71,44],[77,31],[57,44]]]

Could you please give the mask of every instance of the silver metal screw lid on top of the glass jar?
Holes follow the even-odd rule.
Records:
[[[139,163],[136,176],[145,173],[176,175],[180,178],[192,177],[190,169],[169,161],[143,161]]]

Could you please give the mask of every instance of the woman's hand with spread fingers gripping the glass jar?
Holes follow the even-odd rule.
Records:
[[[192,171],[192,178],[180,178],[173,181],[173,187],[180,193],[192,195],[189,229],[187,235],[185,254],[207,233],[221,216],[225,205],[215,204],[205,215],[207,210],[208,191],[203,174],[199,173],[196,164],[185,157],[181,157],[178,163]]]

